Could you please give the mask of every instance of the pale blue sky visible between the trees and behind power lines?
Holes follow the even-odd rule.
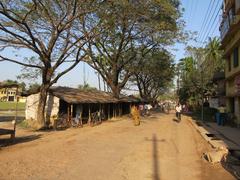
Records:
[[[182,17],[186,22],[185,30],[198,33],[196,36],[197,42],[189,41],[187,45],[203,46],[208,37],[219,36],[219,14],[221,13],[222,0],[181,0],[181,3],[182,8],[185,9]],[[185,47],[186,44],[177,43],[169,49],[174,55],[175,62],[185,57]],[[7,53],[11,53],[11,51]],[[24,57],[26,54],[30,55],[29,52],[22,50],[15,51],[15,54],[18,54],[18,58]],[[75,69],[60,78],[57,85],[77,87],[79,84],[83,84],[84,69],[87,83],[98,88],[97,74],[84,63],[80,63]],[[20,73],[21,66],[9,62],[0,62],[0,82],[6,79],[16,80],[16,76]],[[101,87],[103,88],[103,84],[101,84]]]

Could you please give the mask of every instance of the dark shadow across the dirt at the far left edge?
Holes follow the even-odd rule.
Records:
[[[4,139],[0,139],[0,147],[12,146],[15,144],[27,143],[41,138],[42,135],[29,135],[22,137],[15,137],[13,139],[6,137]]]

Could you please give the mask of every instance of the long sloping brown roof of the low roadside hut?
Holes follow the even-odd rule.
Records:
[[[119,99],[113,97],[112,93],[97,90],[80,90],[69,87],[52,87],[50,93],[71,104],[79,103],[118,103],[118,102],[140,102],[135,97],[121,95]]]

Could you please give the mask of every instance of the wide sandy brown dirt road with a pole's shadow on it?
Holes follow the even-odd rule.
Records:
[[[201,158],[209,144],[173,114],[153,114],[140,126],[123,118],[57,132],[20,129],[17,137],[0,149],[0,179],[234,179]]]

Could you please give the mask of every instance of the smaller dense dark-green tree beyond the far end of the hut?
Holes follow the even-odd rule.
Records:
[[[174,77],[173,59],[166,50],[152,50],[132,68],[134,75],[130,79],[137,85],[140,97],[146,100],[156,100],[166,92]]]

